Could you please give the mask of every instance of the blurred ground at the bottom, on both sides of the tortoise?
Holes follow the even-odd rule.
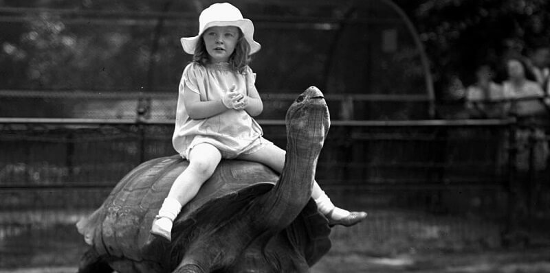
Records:
[[[41,218],[50,214],[61,217],[56,211],[37,213],[37,219],[27,214],[32,219],[19,217],[23,224],[0,233],[0,273],[77,271],[87,249],[74,228],[80,214]],[[548,236],[532,237],[530,246],[505,248],[496,234],[498,226],[473,220],[372,212],[364,224],[333,228],[332,248],[311,273],[550,273]]]

